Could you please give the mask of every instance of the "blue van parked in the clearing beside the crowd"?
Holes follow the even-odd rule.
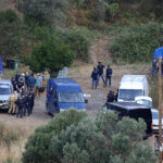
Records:
[[[47,111],[54,115],[70,108],[86,111],[80,85],[72,78],[50,78],[47,89]]]

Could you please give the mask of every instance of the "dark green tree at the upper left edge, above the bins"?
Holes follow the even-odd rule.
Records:
[[[15,11],[9,9],[0,12],[0,54],[3,59],[20,57],[22,48],[28,45],[28,30]]]

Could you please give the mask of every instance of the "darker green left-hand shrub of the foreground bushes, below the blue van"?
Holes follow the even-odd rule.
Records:
[[[60,158],[53,152],[51,140],[59,136],[63,130],[71,125],[77,124],[87,117],[85,112],[70,110],[58,114],[47,126],[39,127],[28,138],[26,143],[26,151],[23,153],[23,163],[51,163],[58,162]],[[62,150],[55,147],[57,153]]]

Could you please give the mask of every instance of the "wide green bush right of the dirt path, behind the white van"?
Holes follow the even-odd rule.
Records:
[[[153,51],[163,45],[163,24],[150,23],[128,28],[120,34],[112,43],[114,62],[149,62]]]

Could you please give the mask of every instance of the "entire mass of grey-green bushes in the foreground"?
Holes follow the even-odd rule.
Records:
[[[70,118],[71,117],[71,118]],[[29,137],[23,163],[153,163],[152,149],[142,140],[146,124],[101,111],[93,122],[68,110]]]

